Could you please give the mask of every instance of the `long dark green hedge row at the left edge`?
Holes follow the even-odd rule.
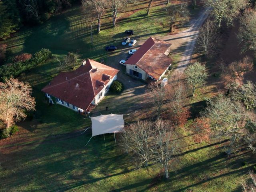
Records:
[[[24,62],[14,62],[10,65],[2,65],[0,67],[0,81],[4,81],[5,78],[9,79],[11,76],[17,77],[22,72],[33,68],[34,66],[44,62],[52,56],[52,52],[49,49],[41,49],[36,52],[32,58]]]

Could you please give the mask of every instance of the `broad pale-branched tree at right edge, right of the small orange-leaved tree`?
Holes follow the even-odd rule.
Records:
[[[201,114],[210,120],[214,136],[230,138],[228,154],[236,152],[245,144],[252,152],[256,152],[256,114],[254,112],[246,112],[239,102],[219,95],[208,101],[208,107]]]

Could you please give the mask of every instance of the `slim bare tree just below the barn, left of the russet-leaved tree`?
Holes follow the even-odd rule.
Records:
[[[157,118],[159,118],[164,109],[164,101],[166,100],[167,90],[166,87],[161,85],[151,85],[150,90],[152,91],[151,96],[156,108]]]

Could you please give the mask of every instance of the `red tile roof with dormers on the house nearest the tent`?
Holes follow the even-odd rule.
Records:
[[[94,97],[118,72],[117,69],[87,59],[85,65],[72,72],[60,72],[42,91],[87,110]]]

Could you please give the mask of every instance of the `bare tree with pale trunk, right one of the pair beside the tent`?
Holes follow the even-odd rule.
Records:
[[[169,178],[168,165],[177,148],[177,144],[173,140],[174,130],[170,127],[170,122],[158,120],[153,131],[154,139],[150,147],[152,160],[162,164],[165,178]]]

